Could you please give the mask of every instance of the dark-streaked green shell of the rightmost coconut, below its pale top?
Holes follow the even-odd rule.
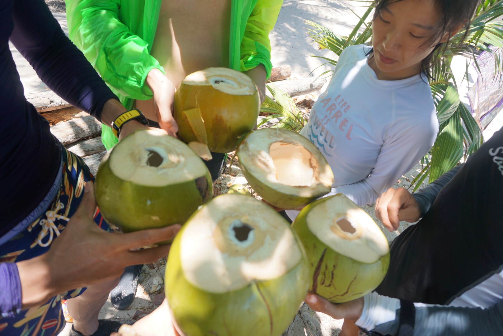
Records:
[[[306,217],[312,208],[328,198],[304,207],[292,228],[300,237],[308,256],[311,274],[309,292],[330,302],[342,303],[358,299],[376,289],[386,276],[390,256],[388,252],[373,264],[361,263],[337,253],[320,241],[309,230]]]

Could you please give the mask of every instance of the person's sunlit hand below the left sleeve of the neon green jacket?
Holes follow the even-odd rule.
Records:
[[[146,84],[154,95],[155,113],[161,129],[167,134],[175,136],[178,125],[173,118],[173,105],[175,103],[175,86],[159,69],[148,72]]]

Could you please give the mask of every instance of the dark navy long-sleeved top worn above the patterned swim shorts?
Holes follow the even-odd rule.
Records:
[[[43,0],[0,0],[0,236],[40,203],[58,173],[59,141],[24,96],[9,39],[56,94],[100,119],[117,97],[64,35]]]

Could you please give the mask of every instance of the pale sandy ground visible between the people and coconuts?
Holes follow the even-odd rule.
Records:
[[[57,0],[48,1],[48,5],[66,32],[66,18],[62,2]],[[291,65],[292,77],[317,76],[329,70],[329,66],[322,65],[323,61],[321,59],[308,57],[309,55],[332,57],[333,54],[328,50],[318,50],[317,45],[309,41],[305,33],[306,29],[304,27],[306,27],[306,24],[304,20],[307,19],[317,22],[334,32],[347,35],[358,21],[352,11],[361,15],[365,11],[365,8],[362,7],[362,3],[351,1],[285,0],[278,22],[270,35],[272,62],[274,66],[284,64]],[[46,86],[37,77],[29,63],[19,54],[12,44],[11,51],[18,65],[18,71],[20,72],[27,98],[39,99],[48,89],[46,89]],[[314,93],[314,99],[317,94],[318,93]],[[484,131],[484,138],[487,140],[492,133],[501,126],[503,126],[503,114],[499,114],[487,127]],[[228,164],[230,164],[230,158]],[[408,187],[410,181],[412,181],[413,177],[420,171],[421,166],[416,165],[414,169],[402,176],[395,186]],[[246,180],[242,176],[236,162],[233,162],[230,172],[227,170],[217,181],[215,185],[215,195],[225,193],[227,188],[234,183],[247,186]],[[250,189],[248,186],[247,188]],[[366,206],[364,209],[374,217],[373,205]],[[389,241],[394,239],[409,225],[408,223],[402,222],[397,231],[389,232],[383,228],[379,221],[376,220],[376,222],[381,226]],[[120,320],[123,323],[132,323],[134,320],[155,309],[162,301],[164,295],[162,284],[164,268],[165,260],[160,260],[156,264],[145,265],[139,279],[136,298],[130,308],[118,311],[112,307],[109,299],[100,312],[100,318],[112,318]],[[334,320],[327,315],[313,312],[309,307],[304,305],[283,335],[332,336],[339,334],[341,325],[342,320]],[[60,335],[66,336],[70,327],[71,323],[67,323]]]

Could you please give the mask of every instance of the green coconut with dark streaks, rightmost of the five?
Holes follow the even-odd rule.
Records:
[[[343,194],[307,205],[292,224],[306,249],[309,292],[347,302],[373,291],[389,266],[389,246],[374,220]]]

